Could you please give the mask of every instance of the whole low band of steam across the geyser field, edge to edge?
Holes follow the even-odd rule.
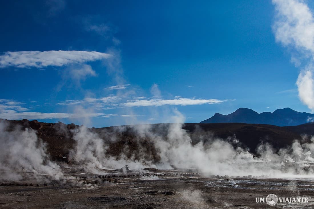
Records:
[[[99,129],[74,124],[1,120],[0,179],[67,180],[73,177],[64,175],[64,167],[74,166],[90,174],[105,175],[125,165],[138,173],[149,167],[197,169],[205,176],[314,176],[314,137],[304,135],[301,141],[295,140],[279,150],[270,143],[261,142],[251,151],[236,137],[213,137],[211,132],[203,131],[197,125],[194,131],[187,131],[183,128],[183,120],[177,111],[172,124]],[[52,140],[47,138],[47,133],[51,135],[49,130],[55,135]],[[37,137],[36,131],[45,140]],[[67,158],[63,160],[67,164],[59,162],[58,156]],[[124,172],[126,169],[121,170]]]

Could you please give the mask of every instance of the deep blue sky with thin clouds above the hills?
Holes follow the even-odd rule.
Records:
[[[307,64],[296,64],[292,55],[302,50],[278,32],[280,8],[280,1],[1,2],[0,117],[102,127],[171,122],[176,110],[191,123],[239,107],[311,112],[296,85]]]

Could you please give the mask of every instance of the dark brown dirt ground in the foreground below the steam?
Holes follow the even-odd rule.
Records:
[[[205,177],[196,170],[104,175],[67,170],[72,180],[1,183],[1,208],[312,208],[314,181]],[[177,174],[177,175],[176,175]],[[38,184],[38,185],[37,185]],[[257,203],[257,197],[308,197],[308,203]]]

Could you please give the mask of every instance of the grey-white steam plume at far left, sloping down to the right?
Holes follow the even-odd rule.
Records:
[[[12,131],[8,129],[13,128]],[[60,179],[59,166],[50,160],[46,144],[32,129],[21,130],[0,121],[0,180],[19,181],[26,176],[36,180]]]

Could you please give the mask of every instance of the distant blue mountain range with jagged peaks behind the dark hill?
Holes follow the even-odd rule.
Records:
[[[278,109],[274,112],[262,112],[258,114],[248,108],[239,108],[229,115],[216,113],[200,123],[251,123],[251,124],[269,124],[274,126],[297,126],[314,120],[314,114],[306,112],[297,112],[288,107]]]

